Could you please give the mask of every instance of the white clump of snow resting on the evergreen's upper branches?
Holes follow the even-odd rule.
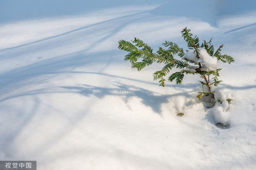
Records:
[[[212,71],[217,69],[217,58],[210,56],[205,48],[198,48],[199,50],[199,58],[196,58],[196,53],[194,50],[188,51],[184,56],[183,59],[187,59],[194,62],[201,62],[203,71]]]

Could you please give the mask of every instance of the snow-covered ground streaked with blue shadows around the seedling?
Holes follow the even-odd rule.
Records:
[[[37,169],[256,169],[256,9],[247,3],[0,2],[0,159]],[[165,40],[185,47],[185,27],[235,59],[219,63],[218,90],[233,99],[228,129],[196,98],[199,78],[160,87],[152,73],[162,65],[136,71],[117,49],[133,37],[155,50]]]

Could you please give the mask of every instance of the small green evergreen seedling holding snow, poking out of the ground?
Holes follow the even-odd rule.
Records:
[[[177,44],[165,41],[163,45],[168,49],[165,50],[163,47],[159,47],[159,50],[153,53],[148,44],[137,38],[134,38],[131,42],[120,40],[119,48],[128,52],[125,56],[125,61],[129,60],[132,64],[131,67],[139,71],[154,62],[164,63],[165,65],[161,70],[153,73],[154,80],[160,80],[160,86],[165,86],[165,76],[169,74],[172,68],[179,68],[181,70],[171,74],[168,77],[168,81],[175,80],[176,84],[181,84],[185,74],[199,75],[203,78],[203,81],[199,82],[207,89],[200,91],[197,97],[201,99],[204,95],[211,95],[214,98],[213,93],[215,91],[211,90],[211,86],[218,86],[222,82],[218,79],[220,76],[219,71],[222,68],[217,68],[217,62],[222,61],[231,64],[234,59],[229,55],[221,54],[221,49],[224,47],[223,44],[214,51],[214,46],[211,44],[212,39],[208,42],[203,41],[200,44],[199,38],[193,36],[187,28],[183,29],[181,33],[189,49],[186,52]],[[183,61],[176,59],[175,55],[178,55]]]

